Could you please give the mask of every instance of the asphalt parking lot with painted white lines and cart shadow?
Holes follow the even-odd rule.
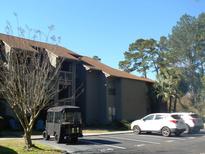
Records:
[[[205,130],[198,134],[182,134],[180,137],[133,133],[85,136],[79,138],[75,145],[56,144],[53,139],[38,142],[67,153],[205,154]]]

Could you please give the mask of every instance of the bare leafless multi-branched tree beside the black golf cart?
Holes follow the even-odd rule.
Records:
[[[19,40],[22,46],[25,42]],[[16,114],[24,130],[25,148],[30,149],[32,128],[40,111],[56,94],[57,74],[62,58],[51,65],[44,48],[32,51],[10,48],[1,42],[0,92]],[[55,50],[55,49],[54,49]]]

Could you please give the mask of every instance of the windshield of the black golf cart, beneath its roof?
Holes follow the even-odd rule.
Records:
[[[81,113],[80,112],[64,112],[63,122],[81,123]]]

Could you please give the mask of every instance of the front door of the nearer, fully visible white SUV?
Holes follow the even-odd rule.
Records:
[[[151,131],[152,130],[152,123],[155,115],[148,115],[142,119],[141,130],[144,131]]]

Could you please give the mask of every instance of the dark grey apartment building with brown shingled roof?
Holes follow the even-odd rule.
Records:
[[[53,105],[80,106],[86,125],[134,120],[151,112],[148,91],[152,80],[111,68],[58,45],[0,34],[1,54],[16,49],[35,51],[39,48],[48,52],[51,63],[55,63],[57,57],[65,59],[57,87],[63,90],[56,93]],[[3,99],[0,114],[12,114]]]

